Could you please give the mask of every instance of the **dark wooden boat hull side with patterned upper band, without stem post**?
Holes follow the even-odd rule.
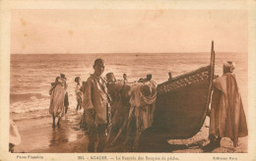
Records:
[[[210,66],[158,87],[153,127],[168,138],[188,138],[204,123],[210,84]]]

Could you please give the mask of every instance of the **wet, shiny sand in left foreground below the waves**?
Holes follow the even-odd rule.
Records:
[[[22,142],[15,146],[14,151],[57,152],[51,149],[60,147],[59,152],[76,152],[63,149],[63,145],[85,137],[85,132],[80,129],[81,115],[82,111],[67,114],[62,118],[60,127],[54,129],[51,127],[51,117],[17,121],[16,125],[21,134]]]

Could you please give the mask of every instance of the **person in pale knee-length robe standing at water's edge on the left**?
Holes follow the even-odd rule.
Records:
[[[64,97],[65,90],[62,86],[62,80],[57,77],[54,85],[49,90],[50,107],[49,113],[52,115],[52,128],[55,128],[55,118],[58,118],[57,126],[60,126],[61,117],[64,116]]]

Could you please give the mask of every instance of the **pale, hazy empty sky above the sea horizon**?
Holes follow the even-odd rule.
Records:
[[[11,53],[247,52],[241,10],[12,10]]]

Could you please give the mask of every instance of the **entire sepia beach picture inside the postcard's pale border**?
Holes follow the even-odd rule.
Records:
[[[3,147],[16,159],[248,154],[248,10],[14,8],[9,14]]]

